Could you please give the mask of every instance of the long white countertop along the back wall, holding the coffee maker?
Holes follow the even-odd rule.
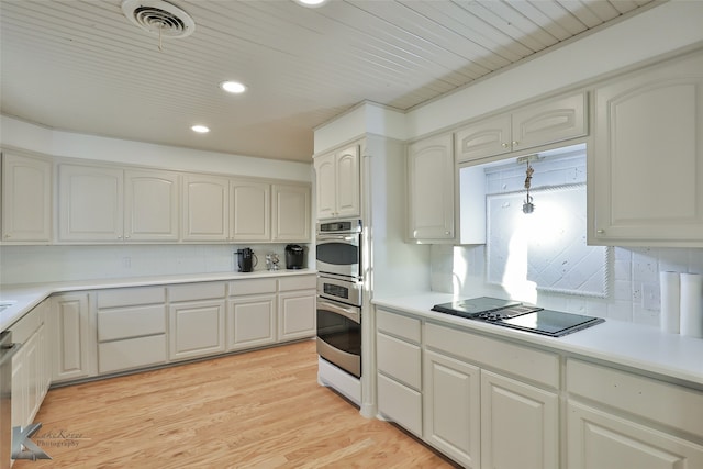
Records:
[[[317,273],[316,270],[255,270],[253,272],[188,273],[178,276],[132,277],[119,279],[71,280],[52,283],[3,284],[0,286],[0,303],[12,301],[12,305],[0,312],[0,332],[29,313],[32,308],[51,294],[81,290],[109,288],[147,287],[158,284],[193,283],[217,280],[243,280],[267,277],[289,277]]]

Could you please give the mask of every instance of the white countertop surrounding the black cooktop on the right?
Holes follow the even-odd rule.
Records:
[[[666,334],[657,327],[607,319],[604,323],[563,337],[548,337],[431,311],[435,304],[454,299],[451,294],[431,292],[402,298],[375,298],[372,303],[449,326],[518,339],[703,386],[703,338]]]

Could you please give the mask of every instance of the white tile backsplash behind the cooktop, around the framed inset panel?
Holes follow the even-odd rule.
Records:
[[[615,247],[611,264],[607,298],[537,291],[537,304],[571,313],[658,326],[659,272],[671,270],[703,273],[703,248]],[[501,287],[486,282],[486,247],[482,245],[432,246],[431,283],[434,291],[458,297],[506,297]],[[518,298],[515,300],[526,301]]]

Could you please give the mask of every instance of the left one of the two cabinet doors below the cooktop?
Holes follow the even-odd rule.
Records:
[[[480,465],[480,370],[425,350],[423,361],[423,436],[469,468]]]

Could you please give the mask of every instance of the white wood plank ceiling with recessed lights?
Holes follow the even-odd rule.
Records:
[[[310,161],[364,100],[409,110],[658,0],[169,0],[163,41],[121,0],[0,0],[1,111],[49,127]],[[225,96],[226,79],[249,87]],[[205,135],[189,127],[203,123]]]

